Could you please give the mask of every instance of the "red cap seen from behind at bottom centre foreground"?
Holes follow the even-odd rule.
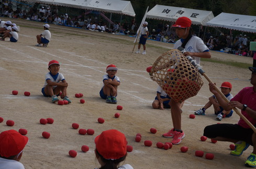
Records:
[[[117,160],[126,154],[126,138],[116,129],[103,131],[95,138],[95,144],[97,151],[107,160]]]

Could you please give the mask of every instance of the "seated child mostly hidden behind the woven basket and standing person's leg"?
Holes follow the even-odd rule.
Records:
[[[160,87],[157,87],[157,94],[155,97],[155,100],[152,103],[152,107],[153,109],[161,109],[164,110],[164,108],[166,109],[170,109],[170,97],[166,94],[166,92]]]

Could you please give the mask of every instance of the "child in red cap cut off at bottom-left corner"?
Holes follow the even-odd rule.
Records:
[[[28,137],[22,136],[14,129],[0,134],[0,169],[25,169],[19,162],[22,151],[28,143]]]

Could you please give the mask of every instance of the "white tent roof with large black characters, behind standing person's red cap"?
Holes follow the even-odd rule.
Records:
[[[205,25],[214,18],[212,11],[173,6],[156,5],[147,12],[147,18],[175,22],[179,17],[188,17],[192,24]]]

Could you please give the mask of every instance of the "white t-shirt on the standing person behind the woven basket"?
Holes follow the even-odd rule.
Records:
[[[183,39],[182,39],[183,40]],[[174,49],[178,49],[182,45],[181,39],[174,44]],[[185,46],[185,51],[202,53],[203,51],[209,51],[208,47],[204,44],[200,37],[192,36],[189,42]],[[200,64],[200,57],[191,56],[197,64]]]

